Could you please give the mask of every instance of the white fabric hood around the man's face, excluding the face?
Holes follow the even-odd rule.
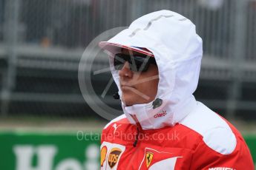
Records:
[[[125,106],[122,102],[122,109],[131,123],[135,124],[131,115],[136,115],[142,129],[174,126],[194,109],[197,103],[192,94],[197,89],[203,43],[188,18],[169,10],[149,13],[132,22],[128,29],[108,42],[146,48],[157,61],[159,84],[156,98],[162,99],[163,103],[153,109],[153,101],[133,106]],[[122,96],[113,61],[110,56],[111,72]],[[156,118],[155,115],[163,112],[164,116]]]

